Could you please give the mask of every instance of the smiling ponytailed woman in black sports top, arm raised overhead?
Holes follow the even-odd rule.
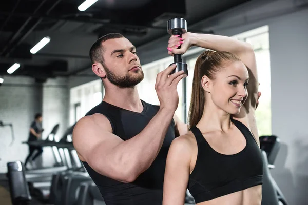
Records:
[[[170,37],[168,53],[182,54],[191,46],[213,51],[204,51],[196,61],[190,131],[170,146],[163,205],[183,205],[186,188],[199,205],[260,205],[263,166],[254,50],[226,36],[185,33]]]

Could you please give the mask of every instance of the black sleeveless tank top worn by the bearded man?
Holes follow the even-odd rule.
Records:
[[[125,110],[103,101],[86,115],[94,113],[105,115],[110,121],[113,134],[127,140],[139,134],[159,110],[159,106],[141,101],[144,108],[141,113]],[[90,177],[98,186],[106,205],[162,204],[166,158],[174,138],[175,124],[172,120],[158,156],[150,168],[132,183],[123,183],[103,176],[95,172],[88,163],[83,162]]]

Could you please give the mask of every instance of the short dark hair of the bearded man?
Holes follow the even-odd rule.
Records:
[[[95,62],[99,62],[102,65],[104,65],[104,59],[103,59],[104,48],[102,46],[102,43],[105,42],[106,40],[114,38],[124,38],[124,36],[120,33],[109,33],[100,37],[95,41],[95,43],[92,45],[90,49],[90,59],[92,61],[92,64],[94,64]]]

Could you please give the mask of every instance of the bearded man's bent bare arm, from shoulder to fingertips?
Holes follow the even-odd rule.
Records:
[[[86,116],[73,130],[73,144],[82,161],[98,173],[122,182],[134,181],[157,157],[178,105],[177,84],[183,72],[168,76],[175,66],[158,74],[160,110],[136,136],[123,141],[112,134],[102,114]]]

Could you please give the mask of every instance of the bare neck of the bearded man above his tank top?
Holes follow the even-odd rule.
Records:
[[[125,110],[139,113],[143,111],[136,86],[134,88],[105,89],[103,101]]]

